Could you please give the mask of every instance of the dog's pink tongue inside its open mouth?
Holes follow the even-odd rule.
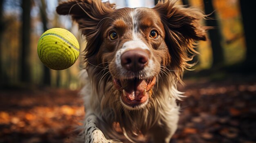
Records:
[[[145,80],[126,80],[121,82],[124,96],[130,100],[140,100],[146,93],[147,83]]]

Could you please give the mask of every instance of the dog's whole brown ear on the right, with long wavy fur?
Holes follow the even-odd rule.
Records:
[[[206,17],[202,11],[176,5],[175,2],[177,0],[159,0],[153,10],[159,14],[164,25],[165,42],[171,55],[169,67],[183,70],[194,65],[188,62],[198,53],[194,49],[195,41],[206,40],[209,27],[201,24]]]

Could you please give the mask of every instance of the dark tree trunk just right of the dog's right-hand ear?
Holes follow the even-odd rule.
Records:
[[[212,1],[204,0],[204,10],[206,14],[210,14],[214,11]],[[221,66],[224,62],[224,54],[221,45],[221,34],[219,25],[216,20],[215,13],[212,13],[209,17],[212,19],[206,20],[207,26],[212,26],[214,29],[209,30],[209,38],[211,40],[211,48],[213,51],[213,67]]]

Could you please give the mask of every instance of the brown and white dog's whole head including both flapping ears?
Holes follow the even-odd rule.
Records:
[[[57,12],[72,15],[79,24],[88,42],[84,59],[90,63],[87,68],[94,69],[90,76],[104,85],[111,82],[127,109],[146,106],[156,82],[169,76],[178,81],[196,53],[195,40],[206,39],[202,12],[167,0],[152,9],[115,9],[115,4],[101,0],[70,0]]]

